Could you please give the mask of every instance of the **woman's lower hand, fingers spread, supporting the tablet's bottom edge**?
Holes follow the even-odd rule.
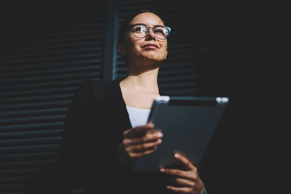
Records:
[[[161,168],[162,173],[175,177],[172,182],[181,185],[181,187],[167,186],[167,189],[182,194],[204,194],[204,184],[198,176],[197,168],[181,154],[175,153],[174,157],[182,162],[187,170]]]

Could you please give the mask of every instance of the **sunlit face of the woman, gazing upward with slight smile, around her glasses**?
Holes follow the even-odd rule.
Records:
[[[157,25],[164,26],[162,19],[152,13],[142,13],[135,16],[129,25],[144,24],[148,28]],[[149,45],[152,44],[152,45]],[[118,47],[119,53],[127,57],[129,64],[161,64],[168,53],[167,39],[158,39],[153,30],[149,29],[146,37],[138,38],[131,29],[126,33],[125,41]]]

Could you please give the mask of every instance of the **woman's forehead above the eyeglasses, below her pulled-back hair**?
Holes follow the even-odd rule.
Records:
[[[135,16],[130,22],[132,24],[146,24],[147,27],[154,27],[156,25],[164,25],[162,19],[153,13],[142,13]]]

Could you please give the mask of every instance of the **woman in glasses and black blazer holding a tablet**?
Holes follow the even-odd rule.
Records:
[[[86,193],[205,193],[196,167],[178,153],[174,157],[184,169],[130,172],[134,159],[154,152],[162,143],[162,133],[149,131],[154,125],[146,118],[153,98],[165,95],[157,77],[168,54],[170,30],[146,10],[125,22],[117,52],[128,64],[128,76],[81,83],[66,116],[64,146],[54,168],[58,174],[47,179],[49,185],[37,183],[42,193],[62,193],[78,182],[84,183]]]

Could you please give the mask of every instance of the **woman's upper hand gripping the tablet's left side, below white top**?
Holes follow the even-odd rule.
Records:
[[[162,132],[154,129],[153,123],[128,129],[123,133],[123,142],[118,146],[119,163],[127,163],[132,159],[150,154],[162,143]]]

